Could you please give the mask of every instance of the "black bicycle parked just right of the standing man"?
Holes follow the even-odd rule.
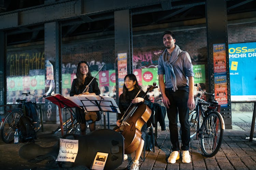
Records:
[[[197,84],[195,84],[198,87]],[[190,138],[197,135],[200,138],[202,155],[213,157],[219,151],[222,144],[225,123],[222,115],[217,111],[218,102],[215,101],[214,93],[201,91],[200,97],[196,97],[196,108],[189,113]],[[213,97],[204,101],[202,95],[207,94]]]

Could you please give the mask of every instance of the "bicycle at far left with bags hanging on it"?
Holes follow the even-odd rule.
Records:
[[[33,104],[36,106],[37,108],[37,115],[36,115],[36,121],[33,122],[33,127],[35,129],[35,132],[38,132],[39,129],[42,127],[42,123],[43,123],[43,116],[42,116],[42,112],[41,112],[41,107],[37,106],[36,104],[36,98],[38,97],[42,97],[42,96],[36,96],[31,94],[30,92],[28,93],[22,93],[23,95],[32,95],[35,97],[35,102],[33,102]],[[15,133],[15,129],[19,129],[19,119],[22,115],[26,115],[26,110],[25,110],[25,105],[24,103],[26,103],[26,99],[17,99],[16,100],[17,103],[21,104],[20,108],[16,108],[16,109],[12,109],[12,111],[8,114],[6,114],[6,116],[2,119],[2,123],[0,126],[0,132],[1,132],[1,138],[5,143],[11,143],[14,140],[14,133]]]

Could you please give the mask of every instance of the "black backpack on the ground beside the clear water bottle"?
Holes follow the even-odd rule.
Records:
[[[27,116],[21,116],[19,119],[20,142],[34,142],[34,139],[36,139],[36,133],[30,118]]]

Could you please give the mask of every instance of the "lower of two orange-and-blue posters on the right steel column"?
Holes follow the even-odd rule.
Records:
[[[227,75],[220,74],[214,76],[214,90],[215,90],[215,100],[218,101],[219,105],[228,104],[227,96]]]

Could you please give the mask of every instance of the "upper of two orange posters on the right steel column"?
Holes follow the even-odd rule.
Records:
[[[213,66],[214,73],[227,72],[225,44],[213,44]]]

